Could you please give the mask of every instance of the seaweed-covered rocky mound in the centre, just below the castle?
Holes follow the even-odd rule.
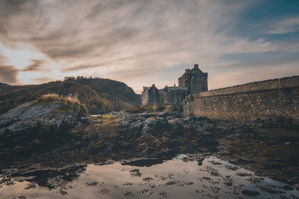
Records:
[[[85,137],[89,132],[99,132],[83,150],[89,154],[119,150],[123,155],[161,158],[182,151],[189,153],[206,144],[214,147],[207,140],[213,136],[214,125],[206,117],[170,119],[164,113],[110,112],[98,118],[93,126],[84,129]],[[199,127],[209,135],[198,130]]]

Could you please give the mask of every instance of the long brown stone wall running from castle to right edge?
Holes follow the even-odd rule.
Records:
[[[299,76],[201,92],[193,94],[193,101],[190,96],[188,98],[189,101],[185,100],[186,104],[183,104],[187,117],[189,106],[193,107],[196,117],[246,121],[271,115],[299,121]]]

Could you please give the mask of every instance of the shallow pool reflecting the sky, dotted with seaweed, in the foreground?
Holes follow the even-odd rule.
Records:
[[[124,164],[14,172],[0,178],[0,198],[299,197],[296,189],[283,189],[286,184],[215,157],[190,161],[186,155],[179,155],[152,166]]]

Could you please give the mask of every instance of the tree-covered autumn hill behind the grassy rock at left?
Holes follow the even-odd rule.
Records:
[[[95,115],[141,105],[140,96],[123,82],[78,76],[39,85],[9,87],[0,93],[0,115],[48,93],[63,96],[77,94],[89,113]]]

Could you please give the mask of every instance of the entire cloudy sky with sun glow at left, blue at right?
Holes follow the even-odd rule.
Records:
[[[299,75],[298,0],[1,0],[0,82],[97,76],[208,89]]]

